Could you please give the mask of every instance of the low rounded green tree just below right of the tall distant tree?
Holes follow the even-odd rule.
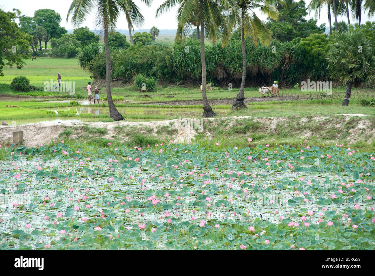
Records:
[[[52,56],[55,57],[75,57],[78,53],[78,47],[81,43],[73,33],[64,34],[54,42]]]

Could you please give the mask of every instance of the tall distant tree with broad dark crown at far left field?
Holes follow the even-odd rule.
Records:
[[[46,30],[45,46],[51,38],[60,38],[68,31],[64,27],[60,27],[61,16],[51,9],[39,9],[34,12],[34,22],[36,26],[41,26]]]

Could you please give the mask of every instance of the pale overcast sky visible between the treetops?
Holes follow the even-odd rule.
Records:
[[[165,14],[162,14],[162,16],[155,18],[155,11],[156,9],[164,2],[165,0],[153,0],[153,4],[151,8],[147,8],[144,4],[138,2],[137,0],[134,0],[134,2],[139,6],[141,9],[141,12],[145,18],[145,24],[142,26],[142,29],[151,29],[152,26],[156,26],[158,29],[177,29],[177,23],[175,20],[175,12],[176,9],[171,10],[170,12],[166,12]],[[1,0],[3,2],[3,0]],[[71,21],[69,20],[68,23],[66,23],[66,15],[68,13],[68,9],[70,4],[72,3],[71,0],[6,0],[6,3],[1,3],[0,7],[1,9],[5,11],[11,11],[13,8],[20,9],[22,14],[26,14],[27,16],[32,17],[34,15],[34,11],[37,9],[54,9],[56,12],[58,12],[62,17],[62,23],[61,26],[65,27],[66,29],[74,29],[75,26],[72,25]],[[305,0],[306,6],[311,2],[311,0]],[[89,29],[94,29],[93,25],[93,13],[88,16],[87,21],[82,26],[87,26]],[[255,12],[261,20],[266,21],[267,17],[264,15],[261,15],[260,11]],[[307,18],[314,17],[314,13],[311,13],[307,16]],[[333,15],[332,15],[333,18]],[[347,22],[346,15],[344,17],[338,17],[338,20],[344,20]],[[353,17],[350,17],[351,23],[357,22],[353,20]],[[375,17],[369,18],[367,16],[367,12],[362,12],[362,20],[361,23],[365,23],[366,21],[374,21]],[[327,9],[323,9],[320,14],[320,19],[318,20],[318,25],[326,23],[326,26],[328,26],[328,15],[327,15]],[[333,20],[332,20],[333,22]],[[127,29],[127,23],[125,21],[125,17],[121,16],[118,19],[117,22],[117,28],[118,29]]]

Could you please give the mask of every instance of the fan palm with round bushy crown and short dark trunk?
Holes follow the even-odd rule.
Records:
[[[353,86],[374,81],[374,50],[374,45],[361,29],[335,33],[333,36],[333,45],[326,59],[332,78],[339,79],[347,86],[342,106],[349,104]]]

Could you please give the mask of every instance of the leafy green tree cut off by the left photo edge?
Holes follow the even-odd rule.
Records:
[[[24,59],[30,58],[28,52],[32,36],[20,30],[15,19],[21,12],[15,9],[13,11],[17,14],[0,9],[0,76],[4,75],[5,65],[16,65],[21,69],[25,64]]]

